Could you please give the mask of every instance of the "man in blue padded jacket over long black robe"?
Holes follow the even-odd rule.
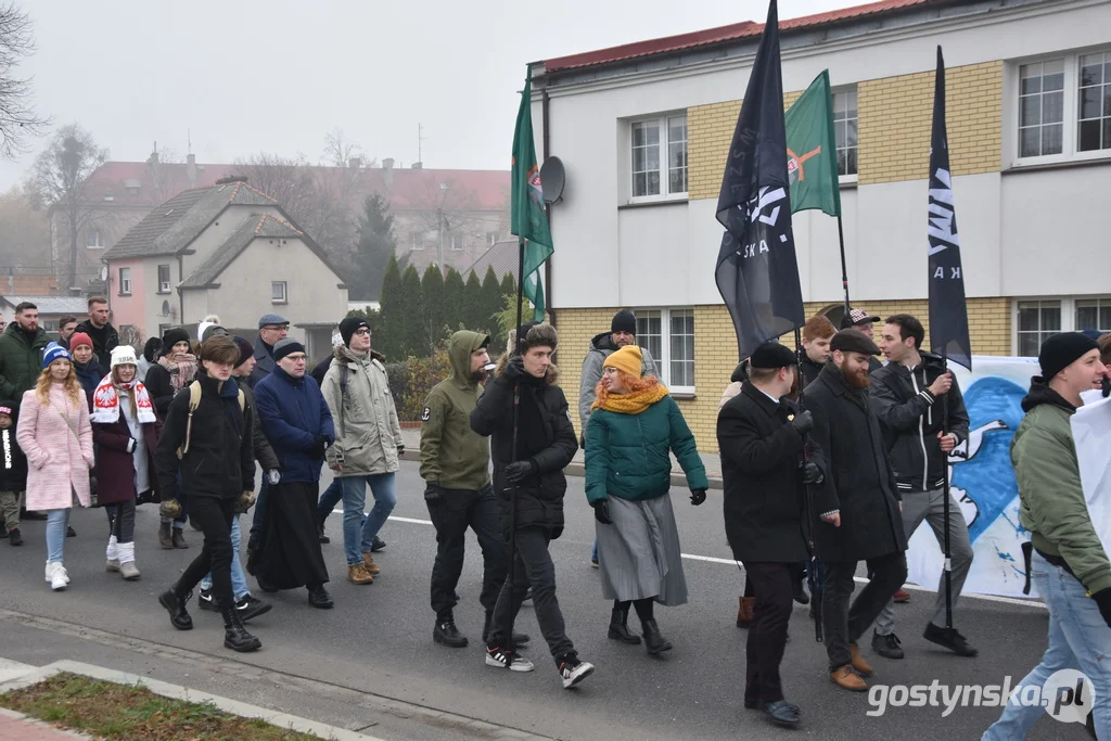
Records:
[[[306,374],[303,344],[279,340],[273,359],[277,366],[254,387],[254,400],[281,473],[258,547],[248,551],[247,570],[263,591],[308,587],[309,604],[329,610],[332,598],[324,589],[328,569],[320,553],[316,512],[324,451],[336,440],[332,415],[320,387]]]

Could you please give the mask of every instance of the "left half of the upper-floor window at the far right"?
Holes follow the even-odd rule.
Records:
[[[1064,60],[1019,69],[1019,157],[1060,154],[1064,144]]]

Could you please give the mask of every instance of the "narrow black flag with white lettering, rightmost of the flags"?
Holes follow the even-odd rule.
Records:
[[[930,349],[972,370],[964,271],[957,236],[949,141],[945,136],[945,62],[938,47],[933,83],[933,137],[930,141]]]

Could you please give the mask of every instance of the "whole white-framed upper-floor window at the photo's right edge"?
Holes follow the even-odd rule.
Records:
[[[1111,51],[1021,63],[1017,93],[1019,163],[1111,154]]]

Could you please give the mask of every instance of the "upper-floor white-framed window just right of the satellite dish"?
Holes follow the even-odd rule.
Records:
[[[630,124],[632,197],[687,193],[687,116],[664,116]]]

